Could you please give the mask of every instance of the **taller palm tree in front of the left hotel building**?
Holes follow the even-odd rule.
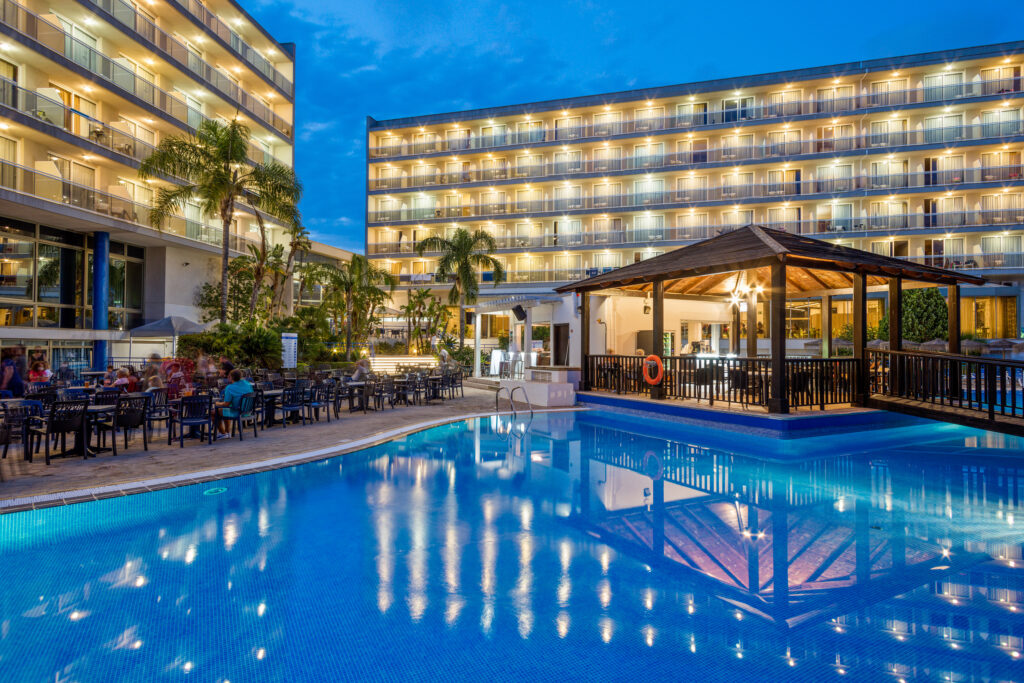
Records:
[[[160,229],[189,202],[198,202],[204,215],[218,216],[223,233],[220,254],[220,322],[227,322],[227,264],[234,208],[247,204],[264,229],[260,212],[286,224],[299,220],[302,186],[294,171],[279,164],[250,164],[249,128],[238,119],[228,123],[208,120],[195,135],[170,135],[161,140],[138,168],[141,178],[170,176],[181,184],[161,187],[150,210],[150,222]]]

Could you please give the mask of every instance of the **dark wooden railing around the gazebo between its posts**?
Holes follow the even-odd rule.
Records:
[[[651,385],[643,379],[644,359],[639,355],[589,355],[589,387],[597,391],[650,395]],[[771,398],[770,358],[722,358],[694,355],[663,358],[664,395],[768,405]],[[787,358],[786,393],[793,408],[851,403],[855,397],[857,358]],[[653,369],[648,371],[654,376]]]

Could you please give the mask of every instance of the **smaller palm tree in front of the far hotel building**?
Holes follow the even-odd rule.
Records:
[[[440,252],[437,259],[437,279],[452,279],[449,303],[459,305],[459,347],[466,346],[466,304],[474,303],[480,293],[476,271],[493,270],[495,287],[505,280],[505,267],[490,254],[495,253],[495,239],[483,230],[470,232],[460,227],[451,238],[432,236],[416,246],[416,252]]]

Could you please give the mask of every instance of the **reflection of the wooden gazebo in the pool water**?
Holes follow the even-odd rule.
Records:
[[[651,478],[647,505],[617,510],[601,509],[581,486],[577,522],[779,626],[837,617],[989,559],[968,552],[949,526],[911,536],[904,510],[858,498],[870,477],[866,460],[765,467],[755,458],[679,447],[638,457],[607,444],[584,457],[584,482],[592,462]]]

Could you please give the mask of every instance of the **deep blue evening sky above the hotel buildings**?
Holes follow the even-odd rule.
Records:
[[[366,117],[390,119],[1024,38],[1024,2],[242,0],[297,44],[313,239],[362,251]]]

